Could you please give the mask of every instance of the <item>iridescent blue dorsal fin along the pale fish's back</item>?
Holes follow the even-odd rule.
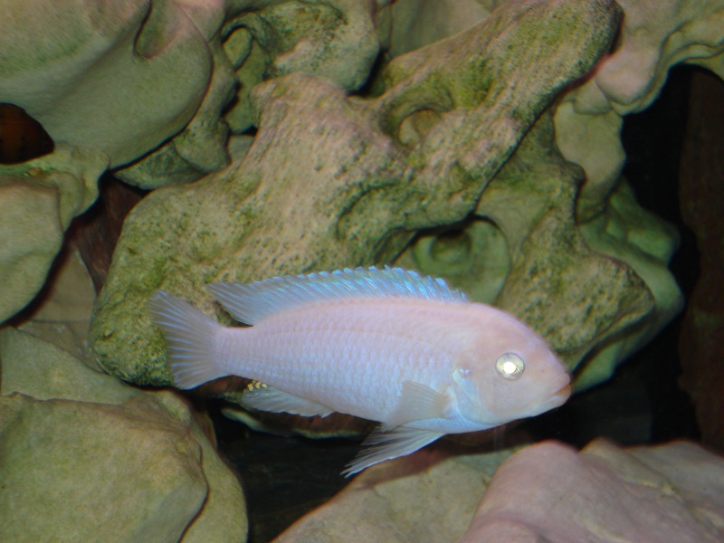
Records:
[[[323,300],[402,296],[449,303],[467,301],[461,291],[451,289],[442,279],[389,266],[384,270],[373,266],[288,275],[247,284],[220,282],[207,288],[224,310],[246,324]]]

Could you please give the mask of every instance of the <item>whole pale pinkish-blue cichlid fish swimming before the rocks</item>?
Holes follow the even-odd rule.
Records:
[[[157,291],[149,309],[167,339],[176,386],[243,376],[243,403],[382,423],[346,475],[414,452],[445,433],[486,430],[562,405],[570,378],[546,342],[508,313],[441,279],[357,268],[208,286],[226,328]]]

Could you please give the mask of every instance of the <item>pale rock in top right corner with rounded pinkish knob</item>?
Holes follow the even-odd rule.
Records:
[[[625,16],[614,52],[557,110],[558,145],[568,160],[586,169],[578,201],[582,220],[601,211],[604,195],[621,175],[622,116],[651,105],[678,63],[703,66],[724,77],[724,2],[621,0],[619,5]]]

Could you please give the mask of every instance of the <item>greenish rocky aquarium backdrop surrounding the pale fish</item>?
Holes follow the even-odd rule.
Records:
[[[7,4],[0,540],[724,539],[720,0]],[[563,157],[617,172],[620,119],[640,237],[595,245],[617,174],[579,186]],[[656,217],[678,250],[635,273],[641,236],[672,240]],[[474,223],[491,269],[415,266]],[[244,412],[252,376],[174,386],[158,289],[232,325],[205,284],[395,262],[527,319],[575,376],[678,307],[669,283],[634,322],[653,272],[686,306],[566,405],[351,479],[375,423]]]

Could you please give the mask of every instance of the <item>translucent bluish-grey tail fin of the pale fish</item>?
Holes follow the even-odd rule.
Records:
[[[163,331],[174,385],[194,388],[206,381],[229,375],[215,354],[216,337],[224,329],[184,300],[166,291],[156,291],[148,301],[156,326]]]

